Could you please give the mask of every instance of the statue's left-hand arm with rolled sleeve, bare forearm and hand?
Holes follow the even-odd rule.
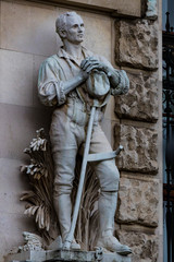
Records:
[[[38,96],[41,103],[46,106],[60,106],[64,104],[66,94],[84,83],[95,67],[90,64],[85,70],[80,69],[76,76],[67,81],[62,81],[59,78],[58,64],[55,66],[53,60],[49,61],[47,59],[41,64],[38,76]]]

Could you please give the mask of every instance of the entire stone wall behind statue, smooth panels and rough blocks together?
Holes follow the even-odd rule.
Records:
[[[2,262],[11,248],[23,243],[22,231],[35,231],[33,219],[23,215],[24,203],[18,201],[21,192],[29,188],[20,174],[20,165],[27,162],[23,150],[35,131],[41,127],[47,132],[49,129],[50,111],[37,98],[37,75],[40,63],[61,45],[54,33],[54,21],[65,11],[69,8],[53,3],[0,1]],[[130,80],[129,93],[111,99],[102,123],[111,144],[114,147],[122,144],[125,148],[117,158],[121,184],[115,234],[133,248],[133,262],[162,262],[158,243],[162,235],[159,21],[121,19],[115,22],[108,14],[76,11],[85,21],[85,46],[125,69]]]

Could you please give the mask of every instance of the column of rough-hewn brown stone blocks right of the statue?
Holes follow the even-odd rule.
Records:
[[[115,147],[121,171],[115,231],[133,249],[134,262],[162,261],[161,76],[159,20],[116,20],[115,63],[128,73],[130,90],[115,98]]]

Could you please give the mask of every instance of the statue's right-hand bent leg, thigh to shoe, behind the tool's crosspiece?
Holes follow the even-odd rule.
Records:
[[[111,151],[111,145],[100,126],[95,127],[90,153],[95,154]],[[125,245],[121,245],[119,240],[113,237],[114,215],[117,204],[120,181],[120,174],[115,166],[115,159],[95,163],[92,168],[99,178],[101,188],[99,198],[99,235],[97,246],[120,254],[128,254],[132,252],[130,249]]]

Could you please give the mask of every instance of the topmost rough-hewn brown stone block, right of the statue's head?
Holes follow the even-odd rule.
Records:
[[[115,59],[120,66],[154,70],[158,68],[158,24],[147,20],[115,24]]]

